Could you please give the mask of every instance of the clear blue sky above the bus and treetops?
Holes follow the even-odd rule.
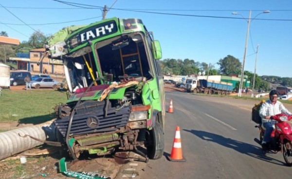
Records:
[[[251,21],[244,69],[254,73],[258,44],[256,74],[292,78],[292,0],[64,1],[100,7],[112,6],[107,18],[143,20],[148,31],[153,31],[154,38],[160,40],[162,60],[190,59],[208,64],[215,64],[227,55],[242,62],[247,19],[251,10],[251,19],[256,19]],[[129,9],[155,13],[128,11]],[[258,15],[264,10],[271,12]],[[232,15],[232,12],[238,12],[243,17]],[[0,0],[0,31],[6,31],[9,37],[20,41],[28,40],[34,30],[52,35],[66,26],[89,24],[101,19],[101,9],[78,8],[55,0]],[[22,21],[30,25],[24,25]],[[215,68],[218,67],[215,65]]]

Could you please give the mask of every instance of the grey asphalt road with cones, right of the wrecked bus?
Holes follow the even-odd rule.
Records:
[[[166,113],[164,156],[140,162],[136,179],[273,179],[290,178],[292,168],[281,153],[264,153],[254,140],[251,121],[258,101],[166,92],[174,113]],[[285,104],[292,111],[292,105]],[[168,104],[166,105],[168,109]],[[185,162],[171,162],[176,126],[180,126]]]

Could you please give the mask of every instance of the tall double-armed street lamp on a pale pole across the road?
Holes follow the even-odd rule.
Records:
[[[263,13],[270,13],[270,11],[263,11],[263,12],[257,14],[255,16],[255,18],[258,15],[263,14]],[[240,16],[242,16],[241,14],[239,14],[237,12],[233,12],[232,14],[233,15],[240,15]],[[249,30],[250,30],[250,24],[251,24],[251,16],[252,16],[252,11],[250,10],[249,18],[248,18],[248,21],[247,21],[247,32],[246,32],[246,38],[245,38],[245,47],[244,47],[243,60],[242,60],[242,69],[241,69],[241,76],[240,76],[238,97],[241,97],[241,90],[242,90],[242,83],[243,83],[243,76],[244,76],[244,64],[245,64],[246,51],[247,51],[247,45],[248,45],[248,36],[249,36]],[[246,20],[246,18],[244,16],[242,16],[242,17]]]

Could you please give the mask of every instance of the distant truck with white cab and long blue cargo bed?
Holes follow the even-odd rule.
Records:
[[[193,80],[192,83],[186,84],[186,90],[193,93],[230,95],[233,84],[213,80]]]

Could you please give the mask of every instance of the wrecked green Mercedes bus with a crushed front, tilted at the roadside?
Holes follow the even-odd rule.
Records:
[[[54,122],[63,152],[73,159],[117,150],[133,150],[146,159],[162,157],[162,51],[142,20],[111,18],[62,29],[46,50],[49,58],[63,60],[68,84],[68,101],[56,107]]]

